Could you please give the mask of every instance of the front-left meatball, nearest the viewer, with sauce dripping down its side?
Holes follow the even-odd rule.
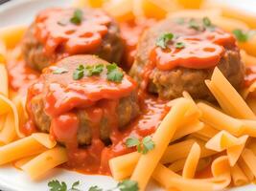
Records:
[[[82,64],[84,75],[74,78]],[[89,68],[100,65],[100,74],[95,71],[86,74]],[[107,66],[116,67],[124,74],[122,81],[107,80]],[[95,55],[73,55],[44,69],[39,80],[30,87],[26,105],[41,132],[55,134],[53,120],[75,114],[79,121],[76,137],[80,145],[90,144],[93,138],[109,143],[111,133],[124,129],[139,114],[136,82],[116,65]],[[58,136],[57,139],[68,141]]]

